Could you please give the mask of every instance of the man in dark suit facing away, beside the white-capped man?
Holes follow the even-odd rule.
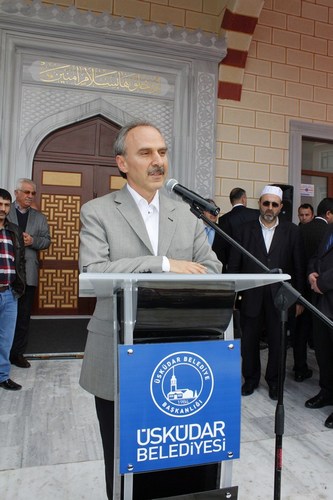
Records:
[[[229,199],[232,209],[220,217],[218,225],[222,231],[234,238],[235,231],[241,224],[259,218],[259,210],[247,208],[247,196],[243,188],[233,188],[230,191]],[[219,241],[219,259],[223,264],[224,273],[228,270],[230,249],[230,243],[221,238]]]

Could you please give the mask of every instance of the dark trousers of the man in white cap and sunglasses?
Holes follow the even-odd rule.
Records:
[[[246,293],[252,293],[253,295],[255,290]],[[265,328],[268,343],[265,379],[268,385],[277,385],[281,343],[281,314],[273,303],[271,291],[268,287],[264,288],[264,297],[258,316],[246,316],[241,310],[242,374],[245,381],[253,383],[255,386],[259,384],[261,376],[260,337],[263,328]]]

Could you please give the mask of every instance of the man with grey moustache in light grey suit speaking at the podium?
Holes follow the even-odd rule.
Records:
[[[83,205],[81,272],[220,273],[222,265],[211,250],[202,220],[186,204],[159,191],[168,173],[167,146],[160,131],[149,122],[131,123],[119,132],[114,150],[127,184]],[[95,396],[109,499],[113,498],[115,398],[112,322],[109,300],[98,298],[80,377],[81,386]],[[150,487],[146,474],[137,476],[145,476]],[[142,494],[137,498],[145,498]]]

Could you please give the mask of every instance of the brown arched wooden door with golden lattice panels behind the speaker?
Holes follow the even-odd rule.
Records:
[[[89,315],[94,299],[78,297],[80,208],[124,184],[112,148],[118,126],[97,116],[50,134],[34,159],[36,202],[52,244],[40,253],[34,315]]]

